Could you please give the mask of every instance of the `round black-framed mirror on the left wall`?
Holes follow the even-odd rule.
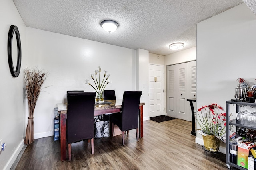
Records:
[[[14,47],[12,47],[12,39],[13,39],[14,33],[16,35],[15,37],[16,37],[17,43],[15,43],[15,45],[17,44],[17,49],[15,45]],[[15,54],[17,54],[17,58],[12,57],[13,51]],[[11,74],[13,77],[18,77],[20,74],[20,66],[21,66],[21,43],[20,43],[20,33],[18,30],[18,27],[16,27],[15,25],[11,25],[9,29],[7,52],[8,52],[8,63],[9,63]],[[13,64],[13,59],[15,60],[14,63],[17,63],[16,66],[14,66]]]

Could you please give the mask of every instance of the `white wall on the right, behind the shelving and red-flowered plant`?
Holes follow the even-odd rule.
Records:
[[[244,3],[197,24],[197,109],[212,102],[225,108],[240,77],[255,83],[255,30],[256,16]],[[198,133],[196,143],[203,145]]]

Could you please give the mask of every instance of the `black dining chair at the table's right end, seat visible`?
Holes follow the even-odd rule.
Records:
[[[121,112],[114,113],[110,117],[111,137],[113,137],[114,125],[117,125],[122,131],[122,145],[124,145],[124,132],[132,129],[136,129],[136,137],[139,141],[138,117],[141,95],[141,91],[124,92]]]

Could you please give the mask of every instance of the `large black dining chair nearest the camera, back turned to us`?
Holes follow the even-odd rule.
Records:
[[[71,160],[71,143],[89,139],[94,154],[94,104],[95,92],[67,93],[67,143],[68,161]]]

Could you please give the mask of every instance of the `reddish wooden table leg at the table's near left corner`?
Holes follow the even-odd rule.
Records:
[[[66,114],[60,114],[60,160],[66,159]]]

